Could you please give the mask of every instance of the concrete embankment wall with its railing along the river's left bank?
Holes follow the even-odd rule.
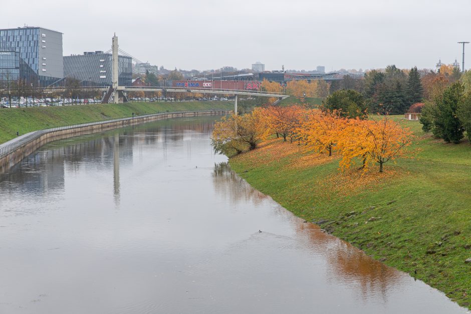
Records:
[[[9,150],[8,153],[0,157],[0,173],[7,172],[10,168],[23,160],[23,158],[35,152],[41,146],[69,138],[80,136],[84,134],[102,132],[111,129],[126,127],[129,125],[142,124],[146,122],[182,118],[182,117],[197,117],[197,116],[215,116],[227,115],[232,111],[229,110],[208,110],[208,111],[186,111],[186,112],[171,112],[160,113],[146,116],[139,116],[134,118],[115,119],[102,122],[85,123],[75,126],[53,128],[48,130],[41,130],[25,134],[22,138],[14,139],[5,144],[0,145],[0,149]],[[14,147],[14,149],[12,149]],[[11,150],[11,151],[10,151]]]

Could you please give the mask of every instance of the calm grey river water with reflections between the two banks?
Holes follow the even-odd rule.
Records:
[[[1,176],[0,313],[467,312],[241,180],[215,119],[54,142]]]

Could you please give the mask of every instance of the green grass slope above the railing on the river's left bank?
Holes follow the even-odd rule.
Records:
[[[131,117],[165,111],[233,109],[228,101],[152,102],[127,104],[90,104],[76,106],[0,109],[0,143],[20,135],[55,126]]]

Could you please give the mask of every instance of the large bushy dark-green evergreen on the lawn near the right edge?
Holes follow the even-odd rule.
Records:
[[[445,142],[459,143],[463,138],[463,126],[457,117],[457,108],[463,101],[463,86],[455,82],[444,92],[437,102],[433,134]]]

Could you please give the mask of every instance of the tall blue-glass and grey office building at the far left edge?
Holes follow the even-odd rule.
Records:
[[[41,27],[0,29],[0,81],[47,86],[63,76],[62,33]]]

